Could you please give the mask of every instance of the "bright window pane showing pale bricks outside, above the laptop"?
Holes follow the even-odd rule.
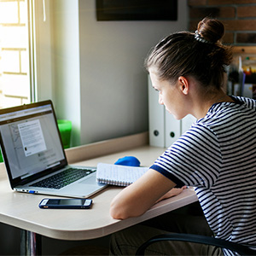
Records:
[[[28,0],[0,0],[0,108],[31,102]]]

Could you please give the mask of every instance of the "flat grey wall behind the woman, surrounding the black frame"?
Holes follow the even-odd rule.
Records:
[[[177,21],[96,21],[95,0],[79,1],[81,143],[148,131],[148,50],[187,28],[187,1]]]

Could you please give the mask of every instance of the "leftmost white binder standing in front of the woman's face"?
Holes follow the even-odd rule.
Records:
[[[149,144],[165,147],[165,107],[159,104],[158,92],[154,90],[148,76]]]

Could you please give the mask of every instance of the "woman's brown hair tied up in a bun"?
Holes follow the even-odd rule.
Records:
[[[145,67],[156,67],[160,79],[177,81],[179,76],[194,76],[203,86],[220,89],[224,73],[232,61],[230,47],[221,44],[224,25],[205,18],[197,32],[177,32],[162,39],[148,54]]]

